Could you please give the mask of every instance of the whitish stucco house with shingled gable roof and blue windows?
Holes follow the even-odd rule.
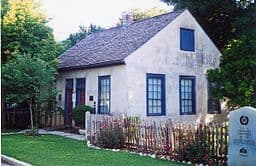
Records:
[[[98,114],[211,121],[221,113],[205,74],[220,56],[187,9],[91,34],[59,56],[65,124],[94,103]]]

